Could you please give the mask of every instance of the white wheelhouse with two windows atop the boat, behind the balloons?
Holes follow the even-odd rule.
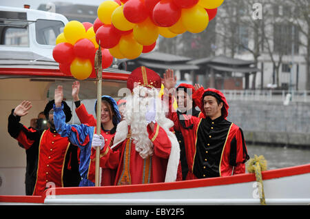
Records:
[[[0,6],[0,52],[34,52],[54,60],[56,37],[66,23],[62,14]]]

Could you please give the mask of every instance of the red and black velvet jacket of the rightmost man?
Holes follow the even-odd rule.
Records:
[[[169,109],[172,109],[171,99]],[[237,125],[222,116],[214,121],[210,118],[184,117],[185,126],[192,125],[192,129],[185,129],[180,124],[176,112],[169,112],[168,115],[174,121],[174,129],[184,136],[189,167],[187,180],[245,173],[248,155],[242,130]]]

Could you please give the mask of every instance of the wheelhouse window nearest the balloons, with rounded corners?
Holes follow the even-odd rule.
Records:
[[[56,37],[63,32],[65,25],[61,21],[38,19],[36,22],[37,43],[42,45],[55,45]]]

